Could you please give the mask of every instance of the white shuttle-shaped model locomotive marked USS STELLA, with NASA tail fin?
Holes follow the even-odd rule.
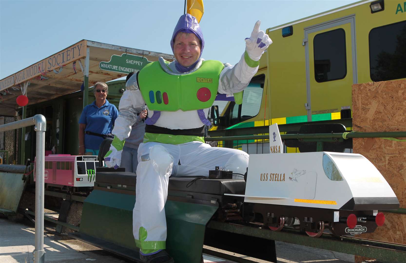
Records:
[[[270,126],[270,135],[270,147],[281,147],[277,126]],[[378,210],[399,207],[387,181],[360,154],[251,154],[246,181],[244,205],[252,205],[274,231],[293,226],[312,237],[324,229],[334,235],[370,233],[384,224]]]

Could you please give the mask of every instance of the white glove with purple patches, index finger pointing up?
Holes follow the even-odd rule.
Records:
[[[265,34],[262,30],[259,30],[261,26],[261,21],[257,21],[254,26],[254,30],[251,33],[251,37],[245,39],[245,51],[248,56],[255,61],[261,58],[263,52],[272,44],[272,40]]]

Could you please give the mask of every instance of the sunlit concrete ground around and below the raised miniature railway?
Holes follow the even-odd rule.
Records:
[[[46,224],[46,223],[45,223]],[[24,224],[11,222],[0,217],[0,263],[25,263],[33,262],[35,229],[28,221]],[[206,247],[212,250],[215,248]],[[69,239],[64,240],[59,235],[44,233],[45,262],[49,263],[124,263],[130,262],[114,254],[86,244]],[[258,263],[268,261],[255,260],[244,255],[217,250],[243,259],[250,259]],[[330,252],[316,248],[298,246],[283,242],[276,242],[278,263],[353,263],[354,256]],[[218,257],[204,255],[204,262],[233,263]]]

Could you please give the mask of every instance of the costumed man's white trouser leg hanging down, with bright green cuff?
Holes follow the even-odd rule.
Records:
[[[141,145],[140,145],[141,149]],[[133,210],[133,234],[141,250],[165,249],[166,218],[164,206],[168,196],[168,180],[173,157],[162,145],[145,147],[148,161],[137,166],[136,203]],[[139,155],[139,159],[141,156]]]

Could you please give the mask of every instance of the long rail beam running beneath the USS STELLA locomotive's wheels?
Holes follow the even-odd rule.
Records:
[[[207,227],[240,235],[260,237],[301,246],[370,257],[378,259],[382,263],[406,262],[406,245],[402,244],[393,244],[354,237],[334,237],[328,234],[323,234],[324,237],[314,238],[304,234],[289,233],[287,231],[277,232],[268,229],[261,229],[259,227],[229,224],[213,220],[209,222]],[[381,245],[382,243],[383,245]],[[387,248],[389,246],[391,246],[391,248]]]

